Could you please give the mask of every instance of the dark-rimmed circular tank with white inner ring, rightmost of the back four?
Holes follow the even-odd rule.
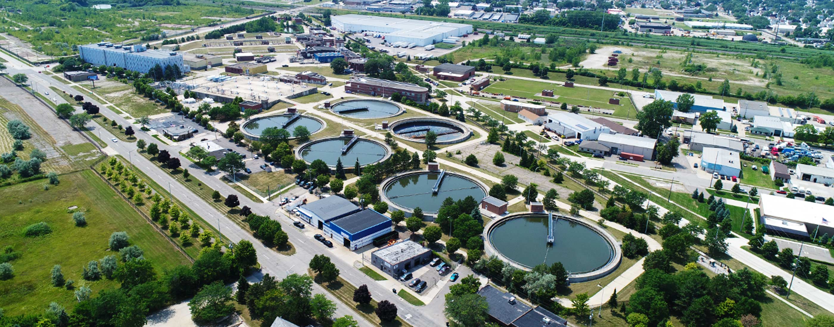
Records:
[[[433,131],[437,144],[453,144],[465,141],[472,134],[469,127],[459,121],[434,117],[414,117],[394,121],[390,130],[407,141],[425,142],[425,135]]]

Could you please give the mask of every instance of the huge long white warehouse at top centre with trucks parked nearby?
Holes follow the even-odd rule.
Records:
[[[354,14],[330,17],[330,23],[344,32],[385,33],[385,41],[389,43],[409,42],[417,43],[418,46],[443,42],[444,38],[460,37],[472,32],[472,25],[456,22],[430,22]]]

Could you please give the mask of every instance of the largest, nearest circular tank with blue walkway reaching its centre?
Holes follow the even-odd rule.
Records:
[[[548,220],[546,214],[522,213],[490,222],[485,228],[488,253],[525,269],[561,262],[571,281],[599,278],[620,264],[616,239],[598,225],[563,214]]]

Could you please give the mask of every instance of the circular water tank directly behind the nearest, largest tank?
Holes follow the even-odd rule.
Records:
[[[445,171],[440,180],[440,175],[440,171],[410,171],[391,177],[382,182],[383,198],[402,211],[419,206],[424,213],[435,214],[447,197],[458,201],[472,196],[480,201],[486,196],[486,186],[474,178]]]

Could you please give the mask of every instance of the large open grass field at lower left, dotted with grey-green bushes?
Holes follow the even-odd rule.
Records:
[[[133,245],[144,251],[158,274],[188,259],[173,248],[163,235],[154,230],[138,212],[114,194],[93,171],[78,171],[59,176],[61,183],[43,190],[43,181],[8,186],[0,189],[3,211],[0,217],[0,244],[11,245],[21,253],[11,261],[14,277],[0,281],[0,306],[7,315],[42,312],[49,302],[56,301],[67,310],[77,303],[73,290],[53,287],[49,281],[53,265],[61,265],[64,278],[75,280],[75,286],[88,285],[94,293],[116,288],[115,280],[82,280],[83,266],[90,260],[112,255],[107,250],[108,238],[114,231],[126,231]],[[87,226],[76,227],[69,206],[84,211]],[[48,223],[53,233],[36,238],[23,237],[27,225]],[[93,294],[95,296],[95,294]]]

